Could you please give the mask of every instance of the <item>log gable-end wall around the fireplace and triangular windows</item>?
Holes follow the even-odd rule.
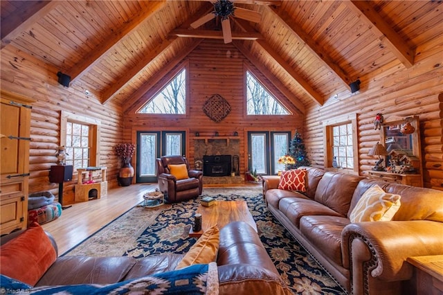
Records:
[[[295,129],[302,128],[303,118],[298,111],[294,111],[293,116],[254,116],[253,118],[246,116],[245,64],[265,84],[265,87],[275,93],[278,98],[284,100],[286,105],[290,106],[291,103],[273,86],[271,79],[274,78],[264,77],[260,74],[255,66],[232,44],[223,44],[217,40],[204,40],[188,55],[185,62],[189,65],[187,69],[189,76],[187,104],[190,105],[186,118],[135,114],[134,109],[130,109],[128,114],[124,116],[125,139],[127,141],[135,142],[137,131],[184,129],[188,131],[188,139],[195,136],[195,132],[199,132],[200,136],[213,136],[215,132],[219,132],[219,136],[233,136],[234,132],[238,132],[239,148],[242,151],[242,154],[239,155],[239,168],[241,175],[244,175],[247,170],[248,152],[245,143],[248,131],[288,130],[295,132]],[[159,74],[168,75],[168,73]],[[168,79],[163,82],[168,82]],[[206,100],[216,93],[226,99],[231,107],[230,114],[219,123],[208,118],[203,111]],[[154,94],[154,90],[148,91],[146,97],[151,97]],[[195,163],[194,148],[195,141],[190,138],[186,154],[191,166],[194,166]]]

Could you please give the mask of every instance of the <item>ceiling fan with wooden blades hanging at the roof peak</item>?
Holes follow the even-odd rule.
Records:
[[[230,17],[238,17],[239,19],[245,19],[246,21],[259,22],[262,19],[262,15],[254,10],[248,10],[244,8],[234,7],[234,3],[228,0],[217,0],[213,2],[214,11],[204,15],[194,21],[190,26],[192,28],[198,28],[199,26],[206,24],[211,19],[219,17],[221,19],[221,30],[223,31],[224,43],[232,42],[232,32],[230,30]]]

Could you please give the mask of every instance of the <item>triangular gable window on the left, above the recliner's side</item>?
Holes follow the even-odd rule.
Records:
[[[141,114],[186,114],[186,69],[138,111]]]

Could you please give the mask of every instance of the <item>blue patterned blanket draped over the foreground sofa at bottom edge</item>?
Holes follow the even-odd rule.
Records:
[[[150,293],[156,290],[159,294],[206,294],[208,288],[214,288],[213,271],[217,271],[215,262],[209,265],[192,265],[177,271],[153,274],[111,285],[68,285],[46,286],[30,289],[31,294],[129,294],[132,292]],[[215,270],[214,270],[215,269]],[[217,282],[215,282],[218,288]]]

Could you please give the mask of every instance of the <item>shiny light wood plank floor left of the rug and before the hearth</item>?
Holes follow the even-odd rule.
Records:
[[[260,184],[207,185],[207,188],[257,187]],[[58,253],[62,255],[82,240],[89,237],[103,226],[127,212],[143,201],[143,195],[154,191],[157,184],[133,184],[131,186],[111,188],[108,195],[89,202],[73,204],[64,209],[57,220],[43,224],[42,227],[57,241]]]

